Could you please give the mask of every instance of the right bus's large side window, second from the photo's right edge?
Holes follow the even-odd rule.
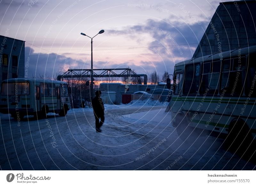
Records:
[[[242,96],[244,92],[245,57],[223,60],[221,92],[226,95]]]

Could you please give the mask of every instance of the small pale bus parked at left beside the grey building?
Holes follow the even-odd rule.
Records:
[[[16,120],[25,115],[45,118],[49,112],[65,116],[69,109],[67,82],[27,78],[2,81],[0,112],[11,114]]]

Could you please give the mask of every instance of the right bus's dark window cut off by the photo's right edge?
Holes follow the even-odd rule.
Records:
[[[245,86],[245,95],[250,97],[256,97],[256,54],[248,56],[248,71]]]

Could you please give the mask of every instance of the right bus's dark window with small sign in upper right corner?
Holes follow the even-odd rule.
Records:
[[[185,67],[183,93],[197,94],[200,81],[200,63],[189,64]]]

